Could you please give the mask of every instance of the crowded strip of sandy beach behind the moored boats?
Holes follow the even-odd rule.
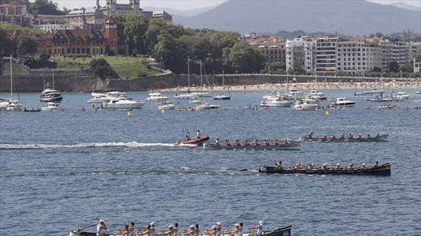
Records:
[[[262,83],[255,85],[241,85],[241,86],[212,86],[212,87],[201,87],[197,88],[200,91],[223,91],[223,90],[232,90],[232,91],[243,91],[243,90],[260,90],[260,91],[273,91],[273,90],[286,90],[286,83]],[[346,83],[290,83],[290,89],[295,90],[329,90],[329,89],[372,89],[372,88],[419,88],[421,90],[420,84],[418,82],[387,82],[387,83],[378,83],[378,82],[346,82]],[[183,92],[187,91],[188,87],[177,87],[177,88],[165,88],[151,90],[153,92]],[[190,87],[190,92],[195,92],[195,87]]]

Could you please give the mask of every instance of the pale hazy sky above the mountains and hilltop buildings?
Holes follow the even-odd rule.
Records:
[[[32,1],[32,0],[31,0]],[[35,0],[34,0],[35,1]],[[63,6],[66,6],[66,8],[81,8],[82,6],[84,7],[91,7],[91,6],[95,6],[95,0],[53,0],[57,3],[59,3],[59,8],[63,8]],[[225,0],[226,1],[226,0]],[[245,1],[245,0],[243,0]],[[251,1],[251,0],[247,0],[247,1]],[[257,0],[258,1],[258,0]],[[343,1],[343,0],[340,0]],[[389,3],[393,3],[393,2],[398,2],[398,1],[394,1],[394,0],[372,0],[375,3],[381,3],[381,4],[389,4]],[[167,1],[167,0],[145,0],[145,1],[140,1],[140,6],[141,8],[146,8],[148,6],[154,6],[154,7],[159,7],[159,8],[173,8],[176,10],[191,10],[194,8],[203,8],[206,6],[215,6],[218,5],[220,3],[223,3],[224,0],[184,0],[184,1],[178,1],[178,0],[172,0],[172,1]],[[420,0],[404,0],[402,1],[404,3],[407,3],[409,5],[413,5],[413,6],[421,6],[421,1]],[[117,0],[117,3],[128,3],[128,0]],[[100,0],[100,4],[101,6],[106,5],[106,0]]]

